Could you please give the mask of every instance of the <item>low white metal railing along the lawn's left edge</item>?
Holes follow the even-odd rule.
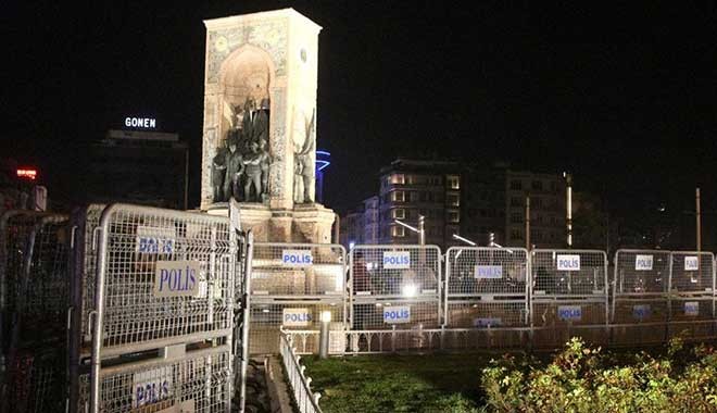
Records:
[[[306,367],[300,363],[301,356],[297,354],[297,350],[293,347],[292,334],[293,331],[285,330],[284,327],[279,328],[279,350],[289,386],[291,387],[293,401],[297,403],[297,408],[301,413],[320,413],[322,409],[318,406],[318,399],[322,395],[311,391],[311,377],[304,374]]]

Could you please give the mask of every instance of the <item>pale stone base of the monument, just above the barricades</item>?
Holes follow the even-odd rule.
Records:
[[[212,204],[206,213],[227,216],[226,202]],[[242,229],[251,229],[257,242],[330,243],[336,214],[320,203],[295,204],[293,210],[274,210],[262,203],[239,202]]]

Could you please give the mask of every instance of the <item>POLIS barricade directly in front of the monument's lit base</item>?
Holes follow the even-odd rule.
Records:
[[[251,270],[250,352],[279,351],[279,327],[330,329],[347,322],[345,249],[329,243],[256,242]]]

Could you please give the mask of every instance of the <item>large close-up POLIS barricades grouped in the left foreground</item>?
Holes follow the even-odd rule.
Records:
[[[251,255],[235,221],[128,204],[3,214],[2,410],[230,411]]]

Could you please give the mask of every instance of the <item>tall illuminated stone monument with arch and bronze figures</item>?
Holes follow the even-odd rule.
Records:
[[[293,9],[204,21],[201,209],[259,241],[330,241],[334,211],[315,202],[322,27]]]

